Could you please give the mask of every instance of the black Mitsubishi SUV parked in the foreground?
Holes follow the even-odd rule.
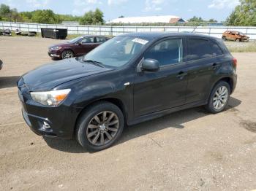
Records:
[[[205,105],[222,112],[236,87],[222,39],[189,33],[116,36],[87,55],[18,80],[23,117],[38,135],[110,147],[125,125]]]

